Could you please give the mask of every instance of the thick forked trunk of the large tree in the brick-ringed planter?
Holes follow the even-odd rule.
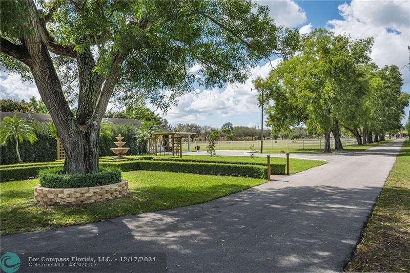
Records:
[[[25,27],[30,34],[24,37],[27,52],[20,58],[31,70],[38,92],[42,97],[57,128],[58,136],[66,152],[64,170],[67,174],[98,172],[99,124],[118,79],[124,56],[112,52],[112,64],[108,76],[94,72],[95,61],[90,47],[77,53],[70,46],[56,46],[46,23],[37,13],[32,1],[20,2],[27,11]],[[21,49],[23,50],[23,49]],[[74,117],[64,96],[49,51],[75,58],[78,66],[78,108]],[[103,85],[104,83],[104,85]]]

